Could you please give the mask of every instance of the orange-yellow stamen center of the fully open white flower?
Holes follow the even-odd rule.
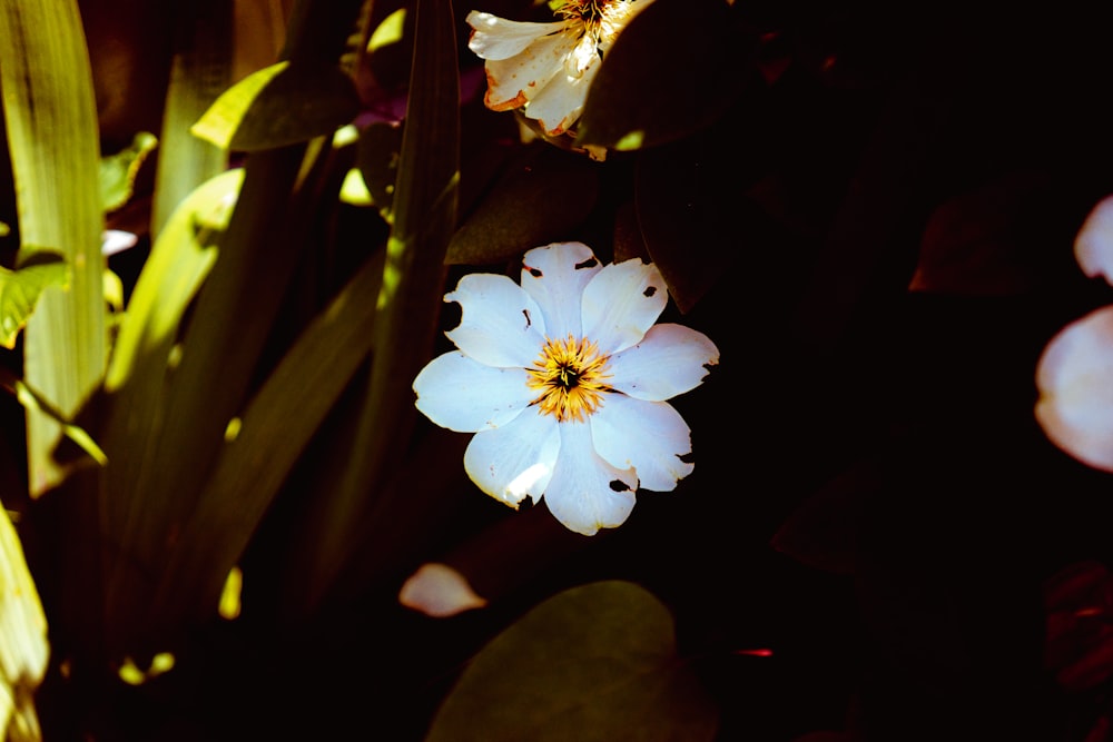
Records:
[[[599,354],[599,347],[587,338],[569,335],[564,340],[545,338],[541,355],[526,372],[526,385],[539,389],[540,395],[531,405],[540,405],[541,413],[552,415],[558,423],[582,423],[603,403],[603,393],[610,392],[604,380],[609,357]]]

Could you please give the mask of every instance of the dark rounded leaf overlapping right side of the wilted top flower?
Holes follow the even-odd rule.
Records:
[[[639,13],[591,83],[577,145],[640,149],[712,123],[756,75],[738,17],[725,0],[657,0]]]

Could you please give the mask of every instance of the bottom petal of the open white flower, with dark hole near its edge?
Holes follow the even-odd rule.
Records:
[[[633,509],[638,475],[618,469],[595,453],[584,423],[560,426],[561,449],[545,504],[570,531],[585,536],[622,525]]]

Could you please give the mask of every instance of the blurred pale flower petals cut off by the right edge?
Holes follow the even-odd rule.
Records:
[[[1113,196],[1086,218],[1074,243],[1087,276],[1113,283]],[[1055,445],[1113,472],[1113,306],[1064,327],[1036,369],[1036,418]]]

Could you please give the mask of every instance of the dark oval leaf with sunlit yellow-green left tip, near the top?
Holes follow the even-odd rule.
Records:
[[[229,88],[190,131],[221,149],[249,152],[332,133],[358,111],[355,86],[339,69],[282,61]]]

